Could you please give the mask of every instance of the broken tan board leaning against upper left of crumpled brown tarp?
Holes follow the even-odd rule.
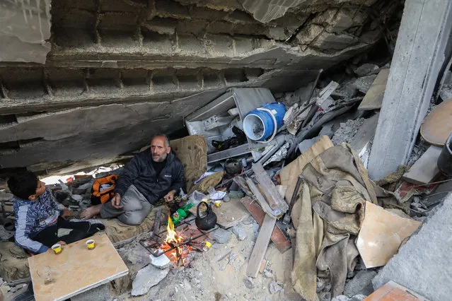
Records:
[[[303,172],[303,168],[306,164],[310,163],[313,158],[317,157],[328,148],[332,148],[334,144],[332,144],[330,138],[328,136],[320,137],[320,140],[315,142],[311,148],[306,151],[306,153],[302,153],[299,155],[299,158],[296,158],[289,165],[284,167],[279,176],[281,177],[281,184],[287,185],[286,190],[286,202],[289,202],[292,194],[295,190],[296,180],[298,179],[301,172]]]

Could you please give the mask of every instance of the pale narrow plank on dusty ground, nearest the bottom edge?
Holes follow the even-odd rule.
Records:
[[[246,275],[249,277],[256,278],[257,273],[259,273],[260,264],[264,259],[265,252],[267,252],[267,247],[270,242],[270,237],[272,237],[272,231],[274,224],[276,223],[276,218],[265,215],[264,221],[260,226],[259,235],[257,235],[256,243],[253,247],[253,252],[251,252],[250,260],[248,261],[248,266],[246,267]]]

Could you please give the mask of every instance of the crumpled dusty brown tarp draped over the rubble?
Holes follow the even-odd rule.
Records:
[[[365,201],[377,203],[376,192],[348,144],[328,148],[313,158],[304,167],[303,177],[309,193],[304,184],[292,283],[301,297],[315,300],[315,276],[328,277],[332,295],[341,295],[347,273],[357,263],[354,239],[364,220]],[[322,228],[315,226],[318,217],[324,222]],[[320,249],[314,237],[323,237]]]

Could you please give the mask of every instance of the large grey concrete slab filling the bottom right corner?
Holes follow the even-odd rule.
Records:
[[[448,300],[451,296],[448,282],[452,275],[451,215],[452,194],[448,194],[441,209],[373,279],[373,288],[395,281],[429,300]]]

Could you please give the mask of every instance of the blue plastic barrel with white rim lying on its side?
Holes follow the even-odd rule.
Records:
[[[243,131],[245,135],[254,141],[265,141],[272,136],[284,124],[283,118],[286,107],[281,102],[272,102],[248,112],[243,119]]]

